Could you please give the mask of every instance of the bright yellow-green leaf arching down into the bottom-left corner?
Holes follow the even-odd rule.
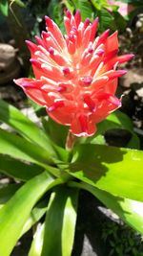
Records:
[[[32,207],[54,183],[47,173],[37,175],[23,185],[0,209],[0,255],[10,256]]]

